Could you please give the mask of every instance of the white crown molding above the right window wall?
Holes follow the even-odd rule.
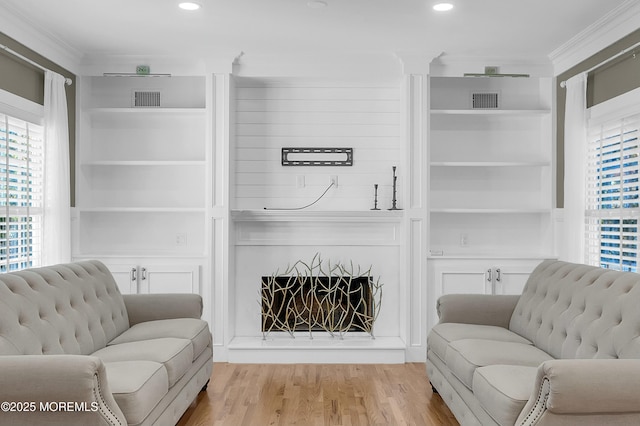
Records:
[[[640,1],[627,0],[549,54],[559,75],[640,28]]]

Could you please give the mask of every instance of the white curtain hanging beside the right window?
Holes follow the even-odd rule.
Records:
[[[567,80],[564,121],[564,256],[585,262],[585,179],[587,170],[587,74]]]

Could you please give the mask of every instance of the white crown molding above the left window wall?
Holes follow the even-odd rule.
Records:
[[[60,67],[77,74],[82,53],[59,37],[42,31],[24,15],[6,4],[0,4],[2,32]]]

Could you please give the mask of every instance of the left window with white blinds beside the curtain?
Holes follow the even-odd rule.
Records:
[[[40,266],[43,132],[0,113],[0,272]]]

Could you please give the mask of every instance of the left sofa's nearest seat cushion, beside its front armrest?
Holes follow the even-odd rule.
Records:
[[[141,423],[169,391],[167,370],[153,361],[105,363],[111,393],[129,425]]]

